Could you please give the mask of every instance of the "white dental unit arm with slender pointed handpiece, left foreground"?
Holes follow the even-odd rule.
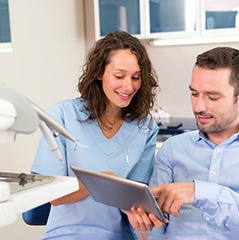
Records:
[[[2,132],[5,132],[5,135],[11,135],[10,132],[32,133],[39,126],[41,130],[45,128],[41,127],[41,122],[44,122],[54,137],[60,134],[80,147],[86,147],[30,99],[3,83],[0,83],[0,104],[0,135]],[[48,132],[43,131],[44,136],[49,135]],[[46,137],[48,138],[50,137]]]

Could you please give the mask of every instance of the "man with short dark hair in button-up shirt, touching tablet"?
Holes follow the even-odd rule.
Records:
[[[150,181],[168,223],[128,217],[147,239],[239,239],[239,50],[198,55],[189,89],[199,130],[165,141]]]

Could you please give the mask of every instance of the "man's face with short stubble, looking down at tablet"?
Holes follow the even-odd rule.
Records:
[[[239,123],[239,101],[229,85],[231,70],[195,67],[191,103],[198,128],[205,133],[234,133]]]

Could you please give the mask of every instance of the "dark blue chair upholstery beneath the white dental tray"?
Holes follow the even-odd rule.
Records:
[[[32,226],[46,225],[51,204],[46,203],[22,213],[23,221]]]

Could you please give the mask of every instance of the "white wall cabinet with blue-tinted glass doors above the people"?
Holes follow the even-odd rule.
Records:
[[[116,30],[143,39],[233,35],[238,9],[239,0],[85,0],[86,35],[91,31],[94,40]]]

